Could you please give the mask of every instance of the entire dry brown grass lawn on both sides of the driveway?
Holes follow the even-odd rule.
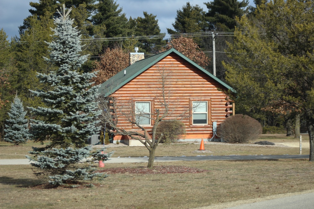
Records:
[[[290,143],[290,146],[240,146],[205,144],[207,155],[228,154],[299,154],[298,139],[283,135],[262,135],[257,141]],[[308,138],[303,137],[302,154]],[[0,143],[1,159],[23,159],[31,146]],[[252,145],[252,144],[251,144]],[[194,155],[199,144],[161,144],[156,156]],[[145,147],[116,147],[116,156],[148,156]],[[195,154],[199,155],[199,153]],[[0,208],[71,208],[71,209],[163,209],[215,206],[231,201],[263,198],[276,194],[314,189],[314,164],[306,159],[246,161],[177,161],[155,162],[208,170],[203,173],[111,174],[93,188],[34,189],[40,183],[30,165],[0,165]],[[95,165],[96,166],[96,165]],[[105,168],[145,167],[147,163],[109,163]],[[98,168],[100,169],[100,168]]]

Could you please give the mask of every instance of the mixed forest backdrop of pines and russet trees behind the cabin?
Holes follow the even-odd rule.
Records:
[[[156,15],[143,11],[143,17],[127,18],[119,4],[113,0],[45,0],[39,3],[30,2],[30,15],[25,17],[23,25],[19,27],[19,36],[7,40],[3,29],[0,30],[0,137],[3,138],[5,120],[8,119],[10,104],[18,95],[25,107],[43,106],[43,103],[29,90],[48,90],[48,86],[40,83],[36,77],[38,73],[55,70],[46,63],[43,57],[48,57],[48,45],[51,41],[53,18],[56,18],[57,8],[61,4],[72,8],[71,18],[74,25],[81,31],[83,55],[89,55],[89,60],[80,69],[83,72],[99,71],[95,83],[102,83],[112,75],[128,65],[128,53],[134,47],[145,56],[158,53],[174,47],[190,57],[207,71],[213,73],[212,51],[213,36],[215,34],[216,75],[222,81],[236,86],[241,90],[238,81],[228,78],[229,64],[235,63],[232,44],[235,39],[235,27],[241,25],[241,17],[248,18],[258,26],[257,7],[265,4],[260,0],[249,6],[248,1],[214,0],[204,3],[207,10],[189,2],[178,8],[172,29],[167,29],[169,38],[160,32]],[[239,26],[240,27],[240,26]],[[234,47],[233,47],[234,48]],[[229,50],[229,52],[228,52]],[[193,55],[187,52],[192,51]],[[228,53],[226,53],[228,52]],[[197,60],[196,53],[203,56]],[[194,57],[194,58],[193,58]],[[295,109],[270,108],[269,98],[249,97],[242,94],[236,101],[236,113],[256,118],[264,127],[264,131],[279,132],[286,128],[287,135],[294,133],[293,127],[298,116],[300,124],[305,124],[302,115],[296,114]],[[27,113],[28,119],[36,116]],[[304,129],[305,130],[305,129]],[[306,130],[305,130],[306,131]]]

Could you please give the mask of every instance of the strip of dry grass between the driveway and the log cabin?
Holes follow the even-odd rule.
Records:
[[[248,146],[254,145],[255,141],[270,141],[275,146]],[[206,142],[204,147],[210,151],[203,155],[268,155],[268,154],[299,154],[299,139],[293,137],[285,137],[284,134],[262,134],[261,137],[250,144],[227,144]],[[287,144],[289,146],[284,146]],[[7,142],[0,142],[0,159],[24,159],[31,147],[41,147],[39,143],[28,142],[20,146],[12,146]],[[195,151],[200,148],[200,144],[160,144],[156,149],[156,157],[162,156],[196,156],[200,153]],[[149,156],[149,152],[144,146],[124,146],[109,147],[107,151],[116,151],[112,157],[143,157]],[[302,154],[309,154],[309,138],[302,138]]]

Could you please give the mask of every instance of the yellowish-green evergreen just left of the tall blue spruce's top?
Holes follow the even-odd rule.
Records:
[[[47,73],[53,70],[43,56],[48,56],[48,46],[44,41],[51,40],[51,27],[53,27],[52,19],[48,16],[36,16],[30,18],[30,26],[20,35],[20,41],[13,44],[16,70],[11,72],[10,83],[12,88],[19,92],[19,97],[25,106],[42,106],[42,102],[29,91],[39,89],[47,89],[48,86],[40,83],[36,77],[36,72]],[[30,116],[30,113],[28,113]]]

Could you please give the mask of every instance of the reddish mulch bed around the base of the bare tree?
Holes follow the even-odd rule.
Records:
[[[107,168],[99,170],[98,172],[108,174],[172,174],[172,173],[203,173],[209,170],[190,168],[185,166],[154,166],[154,168],[147,167],[126,167],[126,168]]]

